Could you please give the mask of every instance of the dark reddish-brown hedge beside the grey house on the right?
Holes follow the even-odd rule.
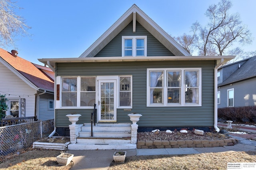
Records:
[[[218,119],[230,120],[236,123],[255,123],[256,106],[219,108]]]

